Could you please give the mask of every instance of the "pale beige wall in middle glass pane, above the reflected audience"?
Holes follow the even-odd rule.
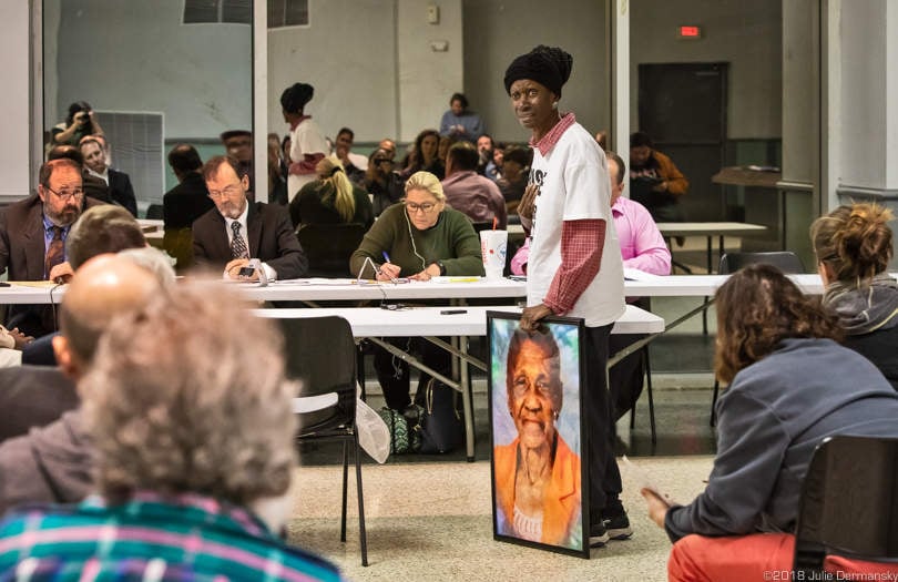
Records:
[[[297,81],[315,88],[306,113],[331,137],[348,126],[357,142],[411,141],[439,125],[461,86],[461,0],[312,0],[309,12],[309,27],[268,33],[268,131],[286,133],[280,93]]]

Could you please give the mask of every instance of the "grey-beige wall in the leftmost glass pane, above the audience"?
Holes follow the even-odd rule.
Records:
[[[181,24],[183,0],[48,0],[48,8],[53,2],[59,50],[44,85],[54,98],[48,103],[55,101],[48,126],[85,100],[104,111],[165,112],[166,139],[251,129],[249,25]]]

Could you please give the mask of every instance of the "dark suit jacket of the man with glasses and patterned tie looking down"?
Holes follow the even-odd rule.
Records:
[[[277,272],[278,279],[294,279],[308,273],[308,259],[299,246],[290,225],[287,210],[277,204],[246,202],[246,243],[249,256],[267,263]],[[195,266],[223,270],[231,261],[227,223],[213,208],[193,223],[193,254]]]

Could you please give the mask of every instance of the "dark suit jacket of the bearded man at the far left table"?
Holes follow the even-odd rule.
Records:
[[[84,208],[103,204],[91,197],[84,198]],[[0,273],[9,274],[9,280],[44,280],[43,258],[43,203],[38,194],[0,208]],[[49,334],[42,324],[49,306],[11,306],[7,320],[9,328],[34,337]]]

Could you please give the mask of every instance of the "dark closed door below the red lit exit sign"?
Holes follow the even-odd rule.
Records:
[[[690,181],[681,204],[690,222],[725,219],[711,176],[726,155],[727,63],[639,65],[639,129]]]

